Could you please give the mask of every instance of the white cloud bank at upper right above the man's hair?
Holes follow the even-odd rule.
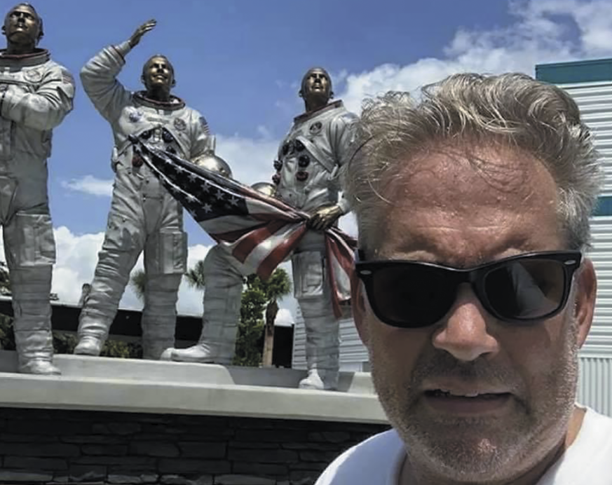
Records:
[[[341,93],[346,106],[358,112],[364,97],[388,90],[412,92],[457,72],[517,71],[533,76],[536,64],[612,54],[608,0],[529,0],[509,5],[514,22],[489,30],[458,29],[441,57],[348,74]],[[576,28],[578,38],[571,39]]]

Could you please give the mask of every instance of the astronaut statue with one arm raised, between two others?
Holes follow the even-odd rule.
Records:
[[[158,359],[174,345],[178,289],[187,257],[183,210],[132,150],[128,137],[193,160],[207,151],[209,131],[198,111],[170,94],[175,72],[167,57],[154,55],[144,64],[142,91],[132,93],[117,80],[125,57],[155,25],[149,20],[128,41],[102,49],[81,69],[83,88],[111,124],[115,184],[102,250],[81,310],[76,354],[100,354],[143,250],[143,357]]]

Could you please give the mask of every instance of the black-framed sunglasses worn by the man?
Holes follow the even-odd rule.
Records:
[[[423,261],[364,261],[360,250],[355,270],[374,315],[393,327],[440,321],[462,283],[472,285],[482,306],[498,320],[526,324],[564,308],[581,259],[580,251],[530,252],[461,269]]]

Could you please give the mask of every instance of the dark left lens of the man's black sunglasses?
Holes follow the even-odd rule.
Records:
[[[372,279],[372,297],[379,319],[395,327],[433,325],[449,310],[456,285],[436,268],[397,265],[379,268]]]

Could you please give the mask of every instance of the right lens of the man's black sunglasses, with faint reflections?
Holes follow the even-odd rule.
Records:
[[[510,320],[533,320],[559,309],[565,273],[560,261],[508,261],[488,273],[484,289],[491,308]]]

